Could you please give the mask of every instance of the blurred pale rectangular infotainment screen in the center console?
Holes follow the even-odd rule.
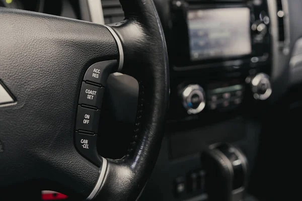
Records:
[[[192,61],[252,52],[248,8],[190,10],[188,29]]]

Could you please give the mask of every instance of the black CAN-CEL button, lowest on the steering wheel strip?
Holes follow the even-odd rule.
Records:
[[[75,147],[85,158],[101,166],[102,161],[97,151],[97,135],[86,135],[75,132]]]

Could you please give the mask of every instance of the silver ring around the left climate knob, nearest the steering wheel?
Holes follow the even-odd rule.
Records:
[[[201,102],[196,109],[188,107],[188,99],[194,94],[198,94],[201,98]],[[181,93],[183,99],[183,106],[187,110],[188,114],[198,114],[205,108],[205,94],[203,88],[198,84],[190,84],[184,88]]]

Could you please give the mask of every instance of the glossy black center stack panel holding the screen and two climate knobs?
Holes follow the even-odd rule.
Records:
[[[172,1],[170,121],[216,119],[267,99],[269,25],[265,1]]]

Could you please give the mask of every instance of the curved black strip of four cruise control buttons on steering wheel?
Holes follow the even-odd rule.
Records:
[[[97,138],[105,85],[110,73],[117,69],[117,60],[102,61],[88,68],[82,82],[74,144],[79,153],[100,167],[102,158],[97,151]]]

